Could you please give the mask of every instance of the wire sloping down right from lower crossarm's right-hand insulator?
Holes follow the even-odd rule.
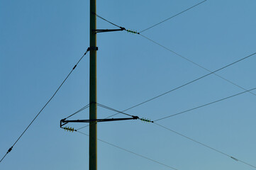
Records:
[[[243,164],[247,164],[247,165],[249,165],[249,166],[251,166],[251,167],[253,167],[253,168],[256,169],[256,166],[253,166],[252,164],[249,164],[249,163],[244,162],[244,161],[242,161],[242,160],[240,160],[240,159],[237,159],[237,158],[235,158],[235,157],[232,157],[230,154],[226,154],[226,153],[224,153],[224,152],[221,152],[221,151],[218,150],[218,149],[215,149],[215,148],[213,148],[213,147],[210,147],[210,146],[208,146],[208,145],[205,145],[205,144],[202,143],[202,142],[199,142],[199,141],[197,141],[197,140],[194,140],[194,139],[192,139],[191,137],[187,137],[186,135],[182,135],[181,133],[176,132],[176,131],[174,131],[174,130],[171,130],[171,129],[169,129],[169,128],[163,126],[163,125],[160,125],[160,124],[158,124],[158,123],[155,123],[155,122],[154,122],[154,124],[160,126],[161,128],[164,128],[164,129],[166,129],[166,130],[169,130],[170,132],[173,132],[173,133],[175,133],[175,134],[177,134],[177,135],[180,135],[180,136],[182,136],[182,137],[185,137],[185,138],[187,138],[188,140],[191,140],[191,141],[193,141],[193,142],[196,142],[196,143],[199,144],[199,145],[202,145],[202,146],[204,146],[204,147],[207,147],[208,149],[212,149],[213,151],[216,151],[216,152],[218,152],[218,153],[220,153],[220,154],[223,154],[223,155],[225,155],[225,156],[227,156],[227,157],[230,157],[231,159],[234,159],[235,161],[242,162]]]

